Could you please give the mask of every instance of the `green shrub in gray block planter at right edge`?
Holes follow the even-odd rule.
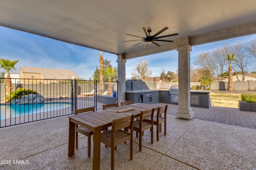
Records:
[[[256,112],[256,94],[241,94],[242,101],[239,101],[240,111]]]

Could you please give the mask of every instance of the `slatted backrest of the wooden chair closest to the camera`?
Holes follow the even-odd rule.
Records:
[[[125,127],[133,128],[134,117],[134,115],[129,115],[120,119],[114,119],[112,123],[112,133]],[[133,129],[131,129],[131,132],[132,131]]]

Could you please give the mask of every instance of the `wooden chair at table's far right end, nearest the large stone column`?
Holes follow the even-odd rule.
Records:
[[[153,123],[154,123],[154,125],[156,125],[156,140],[157,141],[159,141],[159,133],[162,132],[162,123],[163,122],[164,122],[164,135],[166,135],[166,112],[167,112],[167,105],[158,107],[156,116],[154,116],[154,118],[153,118]],[[144,121],[150,123],[151,119],[146,119]]]

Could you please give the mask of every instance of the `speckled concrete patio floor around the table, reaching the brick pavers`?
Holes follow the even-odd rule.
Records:
[[[234,116],[230,111],[236,109],[193,107],[194,118],[185,120],[174,116],[176,108],[178,106],[168,105],[166,136],[162,132],[160,140],[156,141],[154,133],[154,144],[150,144],[150,131],[144,132],[142,152],[138,150],[138,139],[134,134],[133,160],[129,159],[129,142],[118,145],[116,170],[256,169],[256,129],[252,125],[248,128],[234,123],[230,125],[227,121],[227,124],[214,122],[228,114]],[[250,113],[256,117],[254,112],[242,114]],[[216,119],[204,121],[200,120],[202,117]],[[1,170],[92,169],[92,156],[87,157],[87,137],[80,135],[75,155],[67,156],[67,116],[0,128],[0,143]],[[5,164],[9,160],[10,164]],[[103,144],[100,168],[110,169],[110,148]]]

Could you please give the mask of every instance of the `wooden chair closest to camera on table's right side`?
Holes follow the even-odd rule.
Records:
[[[134,115],[114,119],[112,122],[112,129],[101,133],[101,143],[111,148],[111,170],[114,170],[114,158],[117,145],[128,141],[130,139],[130,159],[133,158],[133,123]],[[123,128],[131,127],[130,133],[122,130]]]

